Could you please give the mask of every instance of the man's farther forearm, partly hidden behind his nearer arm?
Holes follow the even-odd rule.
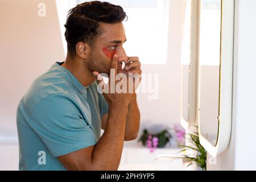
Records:
[[[137,95],[134,95],[133,100],[128,106],[128,113],[126,117],[125,140],[134,140],[137,138],[139,125],[141,121],[141,114],[137,103]]]

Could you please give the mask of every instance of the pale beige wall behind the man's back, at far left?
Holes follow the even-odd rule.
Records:
[[[46,17],[38,16],[39,3]],[[55,1],[0,1],[0,139],[16,134],[16,107],[31,82],[64,59]]]

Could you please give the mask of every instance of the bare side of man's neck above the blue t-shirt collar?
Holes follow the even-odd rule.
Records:
[[[71,72],[85,87],[96,80],[92,72],[89,71],[85,61],[77,59],[76,57],[67,56],[61,67],[68,69],[68,71]]]

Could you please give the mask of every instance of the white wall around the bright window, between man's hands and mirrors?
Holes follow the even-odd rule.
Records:
[[[158,100],[148,100],[148,94],[138,95],[138,103],[141,109],[142,128],[151,124],[166,125],[171,127],[179,124],[180,122],[180,75],[183,8],[183,1],[170,1],[170,26],[168,33],[167,64],[142,65],[143,73],[159,73]]]

